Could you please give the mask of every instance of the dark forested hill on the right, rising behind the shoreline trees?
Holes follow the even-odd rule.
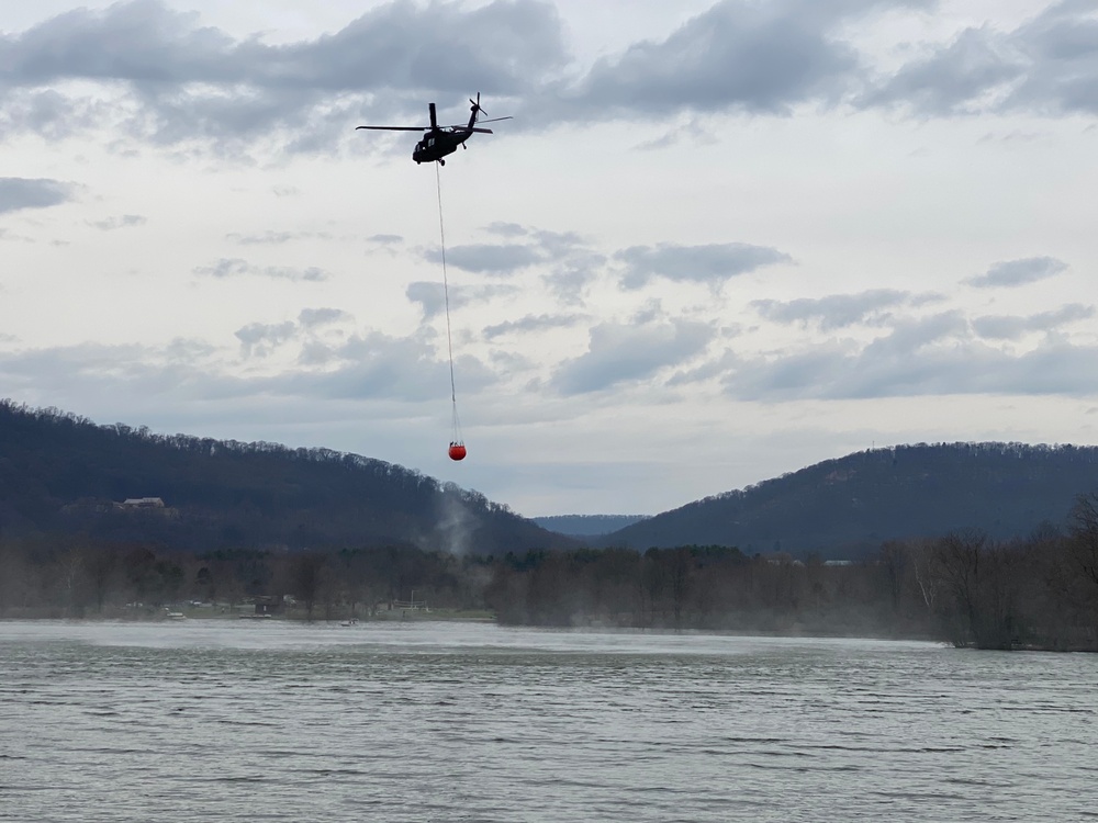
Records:
[[[861,556],[886,540],[981,529],[1026,537],[1063,526],[1098,491],[1098,448],[1021,443],[900,446],[851,454],[691,503],[600,539],[647,549],[735,545],[747,553]]]

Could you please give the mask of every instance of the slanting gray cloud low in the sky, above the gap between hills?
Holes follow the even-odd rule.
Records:
[[[635,383],[694,357],[713,335],[710,326],[685,320],[603,323],[592,327],[584,354],[557,368],[551,386],[575,395]]]

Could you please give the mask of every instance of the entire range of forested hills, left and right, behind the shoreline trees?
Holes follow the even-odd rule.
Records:
[[[362,455],[156,435],[0,401],[5,537],[65,533],[188,550],[407,544],[489,555],[722,545],[856,559],[889,540],[963,528],[995,540],[1058,528],[1076,498],[1095,489],[1096,447],[916,443],[822,461],[652,517],[525,518],[478,492]],[[120,505],[150,496],[164,505]],[[635,522],[609,531],[623,520]]]

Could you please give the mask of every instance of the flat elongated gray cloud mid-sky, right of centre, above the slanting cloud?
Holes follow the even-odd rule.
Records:
[[[621,285],[640,289],[652,278],[719,286],[729,278],[747,274],[764,266],[793,262],[793,258],[765,246],[744,243],[706,246],[632,246],[614,256],[626,264]]]

